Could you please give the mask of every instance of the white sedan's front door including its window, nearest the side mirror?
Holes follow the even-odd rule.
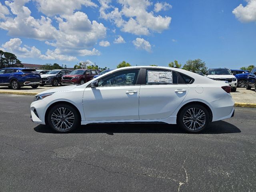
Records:
[[[116,82],[116,77],[132,73],[134,81]],[[139,120],[139,69],[114,72],[98,80],[98,87],[84,90],[86,121]]]

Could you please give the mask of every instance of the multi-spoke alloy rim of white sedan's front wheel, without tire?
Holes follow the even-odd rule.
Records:
[[[75,116],[70,109],[60,107],[52,113],[51,121],[56,129],[69,130],[75,122]]]

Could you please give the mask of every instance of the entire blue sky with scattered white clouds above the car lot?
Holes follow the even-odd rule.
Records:
[[[0,50],[30,64],[238,69],[256,65],[256,0],[0,0]]]

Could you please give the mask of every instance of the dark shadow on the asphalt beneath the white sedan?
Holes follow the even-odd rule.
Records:
[[[36,132],[53,133],[49,126],[38,125],[34,128]],[[225,134],[225,133],[240,133],[241,130],[225,121],[212,122],[208,128],[201,134]],[[114,135],[114,133],[182,133],[188,134],[180,129],[177,125],[169,125],[162,123],[114,123],[114,124],[87,124],[82,125],[71,134],[76,133],[106,133]]]

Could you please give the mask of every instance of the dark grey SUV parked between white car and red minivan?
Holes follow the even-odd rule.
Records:
[[[44,85],[52,85],[52,86],[58,86],[58,84],[61,83],[61,78],[65,74],[69,74],[71,70],[66,69],[55,69],[48,71],[46,74],[42,74],[42,84]]]

